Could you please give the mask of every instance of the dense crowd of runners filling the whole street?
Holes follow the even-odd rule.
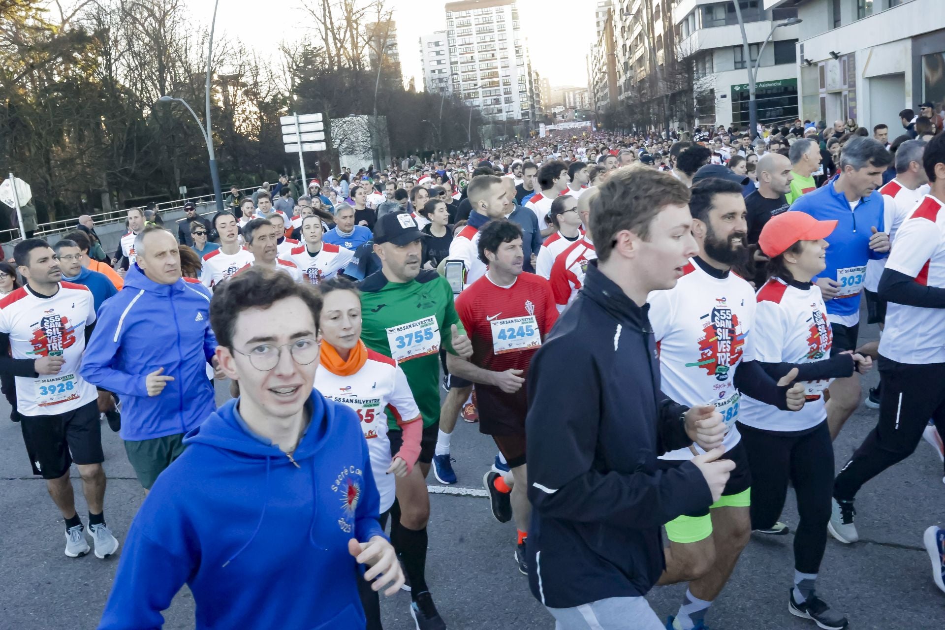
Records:
[[[186,584],[198,628],[378,630],[401,588],[446,628],[427,483],[457,483],[460,418],[558,629],[708,628],[752,534],[792,531],[786,607],[848,627],[828,535],[857,542],[857,492],[923,438],[943,457],[945,134],[837,123],[536,138],[234,189],[173,230],[132,208],[113,256],[89,217],[16,244],[0,376],[66,555],[119,549],[102,423],[146,491],[99,627],[160,627]],[[945,530],[924,544],[945,591]],[[662,620],[644,596],[676,583]]]

